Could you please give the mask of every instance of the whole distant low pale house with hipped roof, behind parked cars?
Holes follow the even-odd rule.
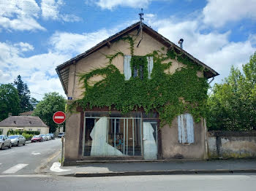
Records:
[[[49,127],[39,117],[10,116],[0,122],[0,131],[7,135],[8,130],[39,131],[40,134],[49,133]]]

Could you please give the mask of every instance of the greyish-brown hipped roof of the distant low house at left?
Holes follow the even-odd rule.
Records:
[[[0,127],[47,127],[39,117],[10,116],[0,122]]]

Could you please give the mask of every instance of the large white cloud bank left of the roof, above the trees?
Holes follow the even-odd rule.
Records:
[[[28,43],[0,42],[0,82],[13,82],[20,74],[32,93],[44,94],[57,91],[64,95],[55,69],[59,64],[69,60],[72,55],[48,52],[24,58],[23,52],[29,50],[34,50],[34,47]],[[42,95],[32,93],[34,98],[42,99]]]

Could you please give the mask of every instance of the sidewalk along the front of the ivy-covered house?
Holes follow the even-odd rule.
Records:
[[[66,170],[66,171],[65,171]],[[136,176],[161,174],[233,174],[256,173],[256,160],[175,160],[169,162],[88,163],[64,166],[60,176]]]

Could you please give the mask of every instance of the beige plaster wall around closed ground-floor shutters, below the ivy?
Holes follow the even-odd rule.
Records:
[[[195,142],[192,144],[178,143],[178,121],[176,117],[171,127],[165,125],[165,127],[162,128],[162,158],[205,159],[205,133],[203,122],[194,122]]]

